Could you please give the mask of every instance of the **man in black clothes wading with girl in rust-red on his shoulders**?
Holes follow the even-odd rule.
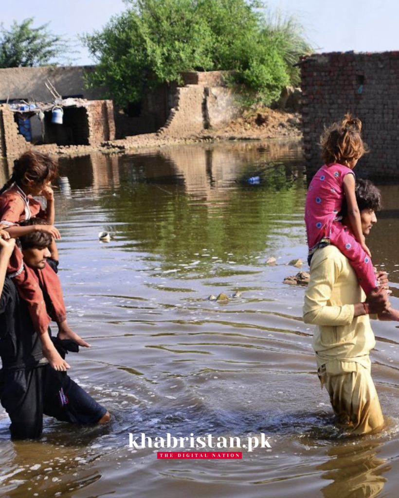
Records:
[[[43,220],[31,219],[27,223],[39,225]],[[57,252],[51,236],[33,232],[19,240],[24,264],[36,275],[44,264],[57,270]],[[43,357],[27,304],[19,298],[10,278],[5,277],[14,243],[14,239],[4,241],[0,238],[0,400],[11,419],[11,438],[40,437],[43,413],[71,423],[108,422],[110,414],[106,408],[71,380],[66,372],[52,369]],[[47,305],[46,295],[43,295]],[[78,349],[72,341],[59,343],[61,348],[72,346],[71,351]],[[60,354],[65,355],[65,351],[61,349]]]

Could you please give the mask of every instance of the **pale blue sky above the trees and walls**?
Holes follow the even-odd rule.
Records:
[[[394,0],[270,0],[271,9],[298,15],[318,52],[399,50],[399,2]],[[110,17],[126,8],[123,0],[3,0],[0,20],[34,17],[35,25],[76,39],[78,34],[101,29]],[[80,44],[74,64],[93,64]]]

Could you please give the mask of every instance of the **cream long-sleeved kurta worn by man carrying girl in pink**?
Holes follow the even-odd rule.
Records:
[[[303,320],[317,325],[312,341],[317,366],[325,364],[331,374],[352,372],[353,362],[370,368],[376,341],[369,316],[354,318],[354,304],[365,295],[348,259],[335,246],[317,249],[310,271]]]

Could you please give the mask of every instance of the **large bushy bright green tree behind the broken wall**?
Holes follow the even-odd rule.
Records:
[[[182,71],[226,70],[244,95],[267,104],[295,80],[292,62],[310,46],[300,24],[275,22],[259,0],[126,0],[128,8],[83,41],[121,107]]]

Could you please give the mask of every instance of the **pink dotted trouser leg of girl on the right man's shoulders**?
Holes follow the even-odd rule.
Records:
[[[330,241],[349,259],[366,295],[378,287],[372,260],[348,227],[334,222],[331,226]]]

